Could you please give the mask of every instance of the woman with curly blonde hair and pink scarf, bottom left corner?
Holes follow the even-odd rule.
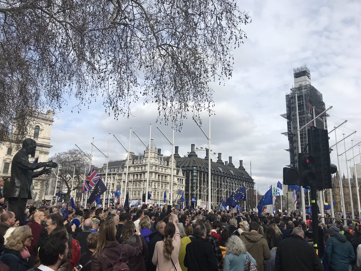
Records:
[[[4,246],[1,261],[9,266],[10,270],[28,270],[27,259],[30,257],[30,253],[27,247],[31,245],[31,240],[32,234],[29,226],[20,226],[14,229]]]

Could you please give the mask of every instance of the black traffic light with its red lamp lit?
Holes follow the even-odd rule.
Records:
[[[315,158],[311,154],[307,152],[301,152],[298,154],[298,169],[301,185],[309,186],[316,181],[314,165]]]

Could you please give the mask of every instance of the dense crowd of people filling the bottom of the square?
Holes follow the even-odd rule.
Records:
[[[309,216],[296,213],[64,207],[27,206],[23,225],[0,208],[0,270],[361,270],[355,222],[318,221],[320,259]]]

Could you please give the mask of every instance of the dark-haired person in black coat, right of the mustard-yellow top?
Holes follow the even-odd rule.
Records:
[[[199,224],[194,229],[194,240],[187,244],[184,266],[188,271],[218,271],[212,245],[205,240],[206,228]]]

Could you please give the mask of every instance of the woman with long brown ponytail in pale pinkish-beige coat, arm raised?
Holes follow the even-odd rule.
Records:
[[[179,271],[178,255],[181,246],[181,235],[174,219],[168,223],[164,229],[164,241],[158,241],[154,249],[152,262],[157,266],[157,271]]]

